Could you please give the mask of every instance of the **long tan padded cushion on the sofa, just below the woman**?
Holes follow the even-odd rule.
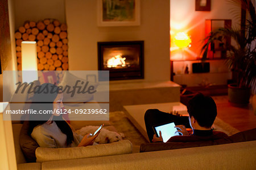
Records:
[[[109,155],[131,154],[133,146],[130,140],[121,140],[109,144],[73,148],[42,148],[36,149],[36,162],[80,159]]]

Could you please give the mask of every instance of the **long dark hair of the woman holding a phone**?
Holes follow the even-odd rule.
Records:
[[[34,97],[30,109],[36,110],[53,110],[53,101],[57,97],[60,88],[50,83],[44,83],[35,88]],[[28,127],[28,135],[31,135],[34,127],[46,123],[52,114],[30,114],[30,123]],[[35,121],[36,120],[36,121]],[[69,146],[74,140],[73,132],[68,123],[64,121],[62,114],[59,116],[53,116],[52,119],[56,125],[60,128],[61,132],[67,135],[67,146]]]

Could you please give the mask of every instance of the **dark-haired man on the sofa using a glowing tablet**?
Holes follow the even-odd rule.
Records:
[[[211,128],[217,116],[216,103],[211,97],[197,94],[188,102],[187,109],[189,117],[179,117],[158,109],[147,110],[144,121],[150,141],[163,142],[161,131],[159,138],[156,137],[152,126],[164,122],[174,122],[177,131],[182,134],[172,136],[167,142],[199,142],[228,137],[224,132],[213,131]],[[186,128],[192,128],[193,134],[189,134]]]

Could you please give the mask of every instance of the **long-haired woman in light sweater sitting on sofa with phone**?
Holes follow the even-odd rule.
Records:
[[[58,86],[45,83],[35,90],[30,109],[36,110],[37,114],[30,114],[28,134],[40,147],[80,147],[94,143],[99,133],[77,135],[63,119],[63,114],[58,114],[63,107],[63,93]]]

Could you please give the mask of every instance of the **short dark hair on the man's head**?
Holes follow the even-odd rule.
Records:
[[[199,93],[188,102],[189,117],[194,117],[201,127],[212,127],[217,116],[216,103],[210,96]]]

